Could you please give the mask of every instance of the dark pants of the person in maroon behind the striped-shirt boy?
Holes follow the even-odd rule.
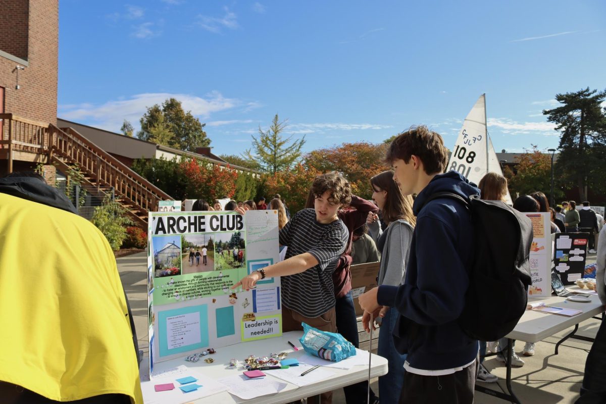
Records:
[[[351,292],[343,297],[337,297],[335,314],[338,333],[353,343],[353,346],[359,348],[358,319],[356,318],[356,308],[353,306],[353,299],[351,299]],[[343,391],[345,392],[345,402],[347,404],[366,403],[368,382],[359,382],[355,385],[345,386]],[[374,397],[375,392],[371,390],[371,402]]]

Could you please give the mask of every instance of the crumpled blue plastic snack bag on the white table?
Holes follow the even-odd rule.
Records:
[[[355,346],[341,334],[320,331],[305,323],[301,323],[301,325],[303,326],[303,336],[299,341],[308,354],[332,362],[355,356]]]

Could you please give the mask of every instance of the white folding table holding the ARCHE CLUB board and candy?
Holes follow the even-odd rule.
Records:
[[[265,340],[251,341],[238,343],[236,345],[224,346],[222,348],[216,348],[217,353],[214,355],[205,356],[212,357],[213,363],[205,363],[204,360],[199,362],[187,362],[184,359],[168,360],[167,362],[159,362],[154,366],[154,373],[160,372],[165,369],[176,368],[177,366],[185,365],[188,369],[204,374],[211,379],[222,379],[224,377],[232,376],[234,374],[242,374],[242,362],[245,358],[250,355],[255,356],[268,356],[270,353],[288,352],[288,359],[299,358],[304,355],[303,349],[299,351],[293,351],[288,341],[295,343],[297,346],[301,346],[299,338],[302,336],[301,331],[290,331],[282,334],[281,337],[275,337]],[[227,364],[231,358],[236,358],[240,361],[238,369],[229,369]],[[368,357],[367,357],[368,359]],[[368,363],[368,362],[367,362]],[[146,358],[141,362],[141,385],[144,383],[154,383],[152,380],[146,379],[146,374],[149,371],[146,370],[148,367],[148,359]],[[368,365],[353,366],[351,369],[336,369],[330,368],[330,371],[334,373],[333,376],[328,377],[320,382],[313,383],[311,385],[298,387],[291,383],[287,383],[287,387],[279,393],[272,394],[271,396],[261,396],[254,399],[255,404],[279,404],[279,403],[290,403],[298,399],[304,399],[305,397],[317,396],[321,392],[331,391],[334,389],[342,388],[344,386],[352,385],[354,383],[363,382],[368,379]],[[371,368],[370,377],[378,377],[387,374],[387,359],[384,357],[372,354],[371,356]],[[271,376],[267,376],[271,377]],[[162,394],[156,394],[153,399],[156,402],[162,403]],[[144,400],[147,401],[146,397]],[[242,400],[239,397],[232,396],[227,391],[215,394],[214,396],[206,397],[204,399],[196,400],[195,403],[244,403],[252,400]],[[166,403],[169,404],[169,403]],[[171,403],[170,403],[171,404]]]

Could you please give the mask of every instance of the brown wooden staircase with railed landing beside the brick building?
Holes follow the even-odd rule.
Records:
[[[173,199],[72,128],[15,114],[0,114],[0,159],[8,160],[9,172],[13,159],[55,164],[64,173],[76,166],[84,174],[83,185],[96,188],[96,196],[105,194],[101,188],[113,187],[115,200],[145,230],[148,212],[158,208],[159,200]]]

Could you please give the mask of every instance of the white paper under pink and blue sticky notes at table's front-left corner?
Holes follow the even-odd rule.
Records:
[[[179,366],[179,368],[181,368],[181,366]],[[202,399],[204,397],[213,396],[214,394],[227,390],[227,386],[216,382],[216,380],[210,379],[210,377],[206,377],[192,371],[187,371],[187,376],[192,376],[198,379],[196,384],[202,385],[202,387],[195,391],[182,392],[179,388],[181,385],[176,381],[176,379],[179,379],[179,377],[182,376],[183,373],[173,374],[172,376],[163,376],[153,379],[148,383],[141,383],[143,402],[145,404],[183,404],[193,400]],[[175,385],[175,389],[168,391],[155,391],[155,385],[161,385],[164,383],[173,383],[173,385]]]

